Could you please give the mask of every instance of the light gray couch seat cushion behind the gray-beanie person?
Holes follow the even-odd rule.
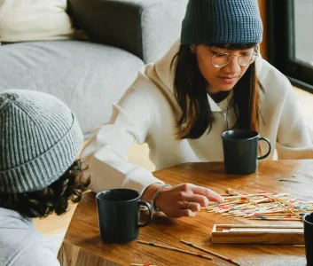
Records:
[[[51,93],[73,110],[85,136],[109,120],[144,65],[128,51],[79,41],[6,44],[0,59],[0,91]]]

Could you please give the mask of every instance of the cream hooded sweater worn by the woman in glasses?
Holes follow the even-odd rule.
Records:
[[[181,110],[173,93],[169,66],[178,48],[177,41],[156,63],[144,66],[129,90],[113,104],[111,120],[96,129],[82,151],[82,159],[90,165],[95,192],[122,187],[143,192],[150,184],[162,183],[145,168],[129,163],[127,153],[135,140],[149,145],[156,169],[184,162],[223,160],[221,134],[227,125],[230,129],[236,122],[233,109],[226,112],[231,94],[219,105],[207,95],[215,115],[209,134],[199,139],[176,139]],[[260,93],[265,124],[261,122],[259,132],[272,145],[267,160],[272,160],[275,148],[279,159],[312,159],[313,134],[304,124],[292,85],[261,57],[255,64],[265,90],[265,94]],[[260,145],[262,154],[267,153],[268,145],[263,141]]]

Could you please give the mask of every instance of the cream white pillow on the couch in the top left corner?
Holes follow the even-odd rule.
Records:
[[[0,41],[64,40],[74,36],[67,0],[0,0]]]

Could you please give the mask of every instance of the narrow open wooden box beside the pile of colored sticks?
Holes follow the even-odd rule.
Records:
[[[304,244],[302,226],[215,224],[212,243]]]

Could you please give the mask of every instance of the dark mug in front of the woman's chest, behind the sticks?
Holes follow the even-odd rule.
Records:
[[[258,160],[270,154],[270,140],[260,137],[259,133],[250,129],[233,129],[223,132],[223,156],[226,173],[234,175],[248,175],[256,171]],[[258,155],[259,141],[269,144],[269,152]]]

